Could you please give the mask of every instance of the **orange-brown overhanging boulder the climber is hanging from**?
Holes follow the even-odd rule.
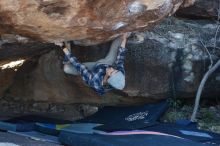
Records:
[[[92,45],[154,26],[195,0],[1,0],[0,34]]]

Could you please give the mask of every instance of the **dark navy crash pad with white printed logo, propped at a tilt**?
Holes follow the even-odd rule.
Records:
[[[94,115],[77,122],[102,124],[95,129],[108,132],[134,130],[156,124],[167,108],[167,101],[141,106],[104,107]]]

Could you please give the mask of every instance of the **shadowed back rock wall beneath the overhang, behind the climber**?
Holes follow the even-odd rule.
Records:
[[[128,40],[126,88],[98,96],[79,76],[62,71],[62,54],[53,50],[37,62],[27,62],[5,94],[15,101],[53,101],[98,105],[125,105],[168,97],[195,97],[201,78],[220,55],[218,25],[208,20],[170,18],[151,31],[134,33]],[[216,46],[216,47],[214,47]],[[81,61],[95,61],[106,55],[109,44],[79,47],[74,53]],[[82,51],[83,50],[83,51]],[[219,97],[219,70],[208,80],[203,97]]]

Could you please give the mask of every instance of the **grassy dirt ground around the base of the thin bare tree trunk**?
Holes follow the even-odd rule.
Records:
[[[170,108],[161,118],[163,122],[175,122],[180,119],[190,119],[193,111],[193,102],[172,100]],[[220,101],[214,99],[211,102],[204,100],[200,103],[197,113],[198,128],[220,133]]]

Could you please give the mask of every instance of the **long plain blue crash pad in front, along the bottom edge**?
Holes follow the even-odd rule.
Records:
[[[168,135],[102,135],[61,131],[59,140],[69,146],[206,146],[188,139]]]

